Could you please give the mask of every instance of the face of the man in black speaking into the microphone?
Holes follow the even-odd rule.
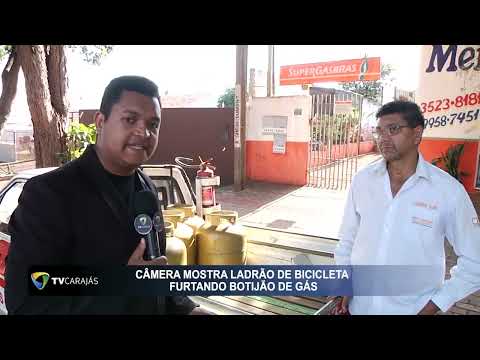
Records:
[[[97,146],[104,161],[116,172],[131,171],[155,152],[160,128],[158,99],[123,91],[108,119],[97,113]]]

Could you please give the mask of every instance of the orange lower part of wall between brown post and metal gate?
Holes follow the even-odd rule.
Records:
[[[285,154],[272,152],[273,141],[247,140],[247,177],[279,184],[307,183],[308,143],[287,142]]]

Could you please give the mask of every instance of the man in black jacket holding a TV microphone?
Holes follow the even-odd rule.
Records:
[[[185,296],[29,296],[32,265],[165,265],[143,260],[133,194],[156,191],[138,167],[155,152],[160,127],[157,86],[124,76],[105,89],[95,115],[97,142],[70,163],[28,181],[9,222],[9,314],[206,314]]]

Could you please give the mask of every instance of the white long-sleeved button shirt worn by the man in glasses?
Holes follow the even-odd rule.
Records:
[[[458,256],[445,278],[444,238]],[[338,265],[436,265],[432,286],[416,296],[354,296],[351,314],[417,314],[429,300],[443,312],[480,289],[480,225],[465,188],[419,154],[413,174],[392,197],[386,161],[360,170],[350,186]]]

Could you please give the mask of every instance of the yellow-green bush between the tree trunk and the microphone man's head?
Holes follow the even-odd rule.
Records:
[[[89,144],[95,144],[97,130],[95,124],[72,123],[67,130],[65,153],[60,155],[62,163],[79,158]]]

